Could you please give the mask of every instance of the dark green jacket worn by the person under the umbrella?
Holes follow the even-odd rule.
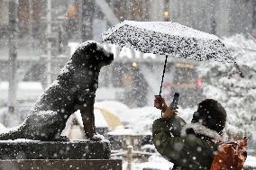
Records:
[[[177,126],[177,123],[172,123],[178,121],[182,121],[183,124],[185,122],[178,116],[174,116],[169,120],[160,118],[153,122],[152,136],[155,148],[161,156],[174,163],[174,169],[180,169],[176,166],[181,166],[181,169],[187,170],[210,169],[214,158],[214,152],[218,147],[212,140],[213,135],[207,137],[207,134],[200,134],[197,130],[193,130],[193,128],[186,129],[186,125],[181,131],[185,131],[187,134],[179,137],[180,133],[182,133],[180,132],[182,125]],[[173,126],[173,124],[176,125]],[[194,129],[197,129],[197,126],[195,127]],[[173,134],[176,137],[173,136]]]

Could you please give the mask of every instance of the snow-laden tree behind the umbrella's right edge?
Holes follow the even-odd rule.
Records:
[[[223,39],[242,71],[234,64],[202,62],[197,67],[204,81],[204,94],[223,104],[227,130],[250,133],[256,127],[256,41],[238,34]]]

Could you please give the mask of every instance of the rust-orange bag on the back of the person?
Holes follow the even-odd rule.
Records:
[[[210,170],[242,170],[247,157],[247,138],[220,144]]]

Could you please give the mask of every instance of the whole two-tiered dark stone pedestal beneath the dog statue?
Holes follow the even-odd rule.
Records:
[[[122,170],[107,140],[0,140],[1,170]]]

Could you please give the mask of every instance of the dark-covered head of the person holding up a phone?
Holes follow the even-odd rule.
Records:
[[[201,122],[206,128],[222,133],[226,121],[226,112],[221,103],[213,99],[206,99],[198,103],[197,112],[193,114],[191,122]]]

